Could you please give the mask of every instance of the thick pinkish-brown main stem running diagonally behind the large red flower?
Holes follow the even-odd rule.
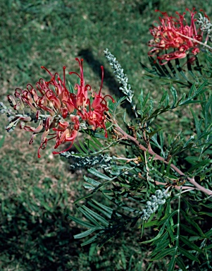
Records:
[[[146,147],[144,147],[142,144],[140,144],[139,141],[136,138],[133,138],[131,135],[128,135],[127,133],[125,133],[125,131],[123,131],[123,129],[120,128],[120,126],[118,126],[117,123],[115,123],[115,126],[116,126],[116,131],[122,133],[125,138],[128,138],[128,139],[132,140],[132,142],[135,143],[135,145],[137,145],[139,147],[139,149],[143,150],[144,152],[146,152],[146,151],[149,152],[149,154],[151,156],[154,156],[154,159],[158,159],[161,162],[163,162],[164,164],[168,164],[168,161],[166,161],[163,157],[161,157],[160,155],[157,155],[151,149],[148,150]],[[174,171],[177,172],[180,176],[185,176],[185,174],[180,169],[178,169],[174,164],[170,164],[170,167],[172,169],[174,169]],[[207,195],[212,195],[211,190],[201,186],[199,183],[197,183],[197,181],[194,180],[194,178],[190,178],[190,177],[187,176],[187,180],[190,183],[192,183],[197,188],[197,190],[200,190],[200,191],[206,193]]]

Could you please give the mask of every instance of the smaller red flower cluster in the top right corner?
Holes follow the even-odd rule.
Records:
[[[202,28],[196,28],[197,19],[194,16],[197,11],[194,9],[192,11],[186,9],[191,18],[190,24],[185,20],[185,13],[181,15],[176,12],[178,17],[173,17],[160,11],[161,24],[150,29],[154,39],[150,40],[149,46],[154,48],[149,51],[149,56],[156,55],[160,64],[166,64],[171,59],[183,59],[189,53],[193,55],[192,59],[195,58],[195,55],[200,52],[199,46],[204,32]],[[169,49],[171,51],[167,52]],[[165,52],[165,54],[159,55],[161,52]]]

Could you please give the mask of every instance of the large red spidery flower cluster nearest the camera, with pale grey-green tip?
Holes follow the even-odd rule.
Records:
[[[96,93],[91,91],[90,85],[85,84],[83,59],[76,59],[76,61],[80,65],[80,74],[69,73],[77,75],[80,79],[80,83],[75,85],[76,94],[70,92],[67,88],[65,66],[63,67],[63,80],[58,73],[52,74],[42,66],[51,76],[49,81],[40,79],[36,83],[36,88],[27,84],[26,90],[17,88],[14,96],[8,95],[8,101],[15,112],[7,110],[10,123],[6,126],[6,130],[8,132],[13,131],[15,126],[20,123],[20,128],[32,132],[30,144],[38,133],[42,133],[38,157],[40,157],[39,151],[44,149],[47,141],[53,138],[56,139],[54,149],[63,143],[70,143],[66,150],[54,151],[54,154],[70,150],[80,127],[85,125],[91,126],[93,130],[103,128],[107,137],[106,116],[104,114],[108,111],[106,97],[110,97],[113,102],[114,100],[110,95],[102,96],[101,94],[104,78],[103,66],[101,66],[101,87],[99,92]],[[88,98],[88,92],[91,93],[90,98]],[[5,108],[4,111],[6,111]],[[38,124],[36,128],[30,125],[32,122]]]

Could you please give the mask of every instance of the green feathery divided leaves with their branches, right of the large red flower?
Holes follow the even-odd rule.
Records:
[[[151,65],[155,72],[152,76],[158,79],[161,66],[152,61]],[[165,66],[162,68],[164,71]],[[84,176],[84,187],[90,192],[75,201],[85,219],[70,216],[86,228],[75,235],[76,239],[85,238],[82,246],[93,242],[103,246],[120,231],[138,228],[141,245],[149,243],[152,246],[147,270],[151,269],[152,263],[163,258],[169,259],[170,271],[176,267],[180,270],[212,268],[212,233],[205,223],[211,217],[212,204],[211,83],[206,75],[199,78],[201,73],[196,68],[189,72],[197,78],[193,83],[189,83],[185,76],[180,80],[174,73],[177,79],[172,80],[173,74],[169,77],[166,74],[166,81],[162,80],[162,83],[171,85],[168,90],[162,88],[163,95],[157,102],[150,94],[144,96],[141,91],[136,112],[138,117],[131,123],[125,122],[125,131],[116,122],[116,110],[123,99],[116,104],[111,103],[108,119],[112,124],[109,128],[112,138],[99,143],[99,133],[94,132],[77,146],[77,153],[69,154],[89,160],[84,167],[89,172],[89,177]],[[209,72],[212,70],[207,70],[207,74]],[[182,85],[183,92],[180,91]],[[174,135],[170,131],[166,137],[163,126],[158,126],[158,118],[181,108],[186,108],[194,119],[192,135],[187,136],[183,131]],[[124,157],[117,153],[111,156],[109,150],[112,147],[113,152],[114,145],[123,145]],[[71,167],[74,169],[75,164]],[[159,202],[158,188],[166,193],[166,200]],[[94,200],[96,193],[104,196],[108,205]],[[144,219],[145,210],[150,213]],[[156,234],[154,238],[143,241],[142,236],[149,228]]]

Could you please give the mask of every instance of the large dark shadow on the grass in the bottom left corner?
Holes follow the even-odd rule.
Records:
[[[82,239],[73,236],[83,229],[68,218],[68,206],[41,205],[39,212],[33,212],[35,205],[21,197],[0,204],[0,270],[119,271],[130,265],[129,270],[140,270],[144,252],[130,229],[101,249],[96,249],[96,243],[81,247]]]

